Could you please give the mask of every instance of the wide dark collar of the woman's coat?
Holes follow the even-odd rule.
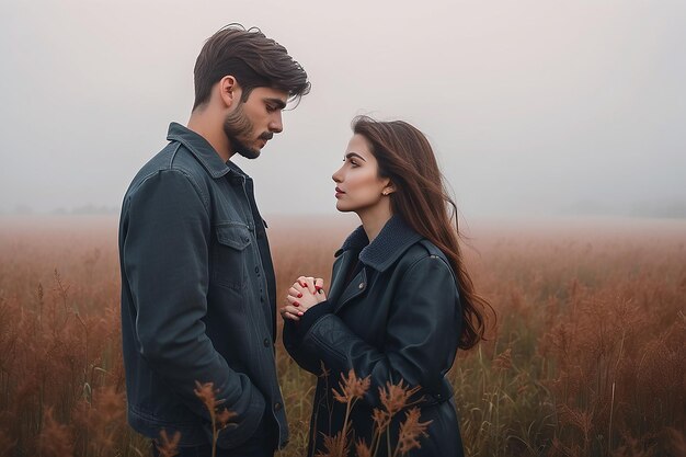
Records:
[[[336,256],[344,251],[359,251],[359,261],[379,272],[391,266],[404,251],[422,239],[422,236],[412,230],[400,216],[391,217],[379,235],[369,243],[367,233],[362,226],[353,231]]]

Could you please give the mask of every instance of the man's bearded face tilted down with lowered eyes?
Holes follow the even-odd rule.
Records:
[[[255,88],[245,102],[239,102],[226,117],[224,132],[231,150],[247,159],[256,159],[274,134],[284,129],[282,111],[288,93],[272,88]]]

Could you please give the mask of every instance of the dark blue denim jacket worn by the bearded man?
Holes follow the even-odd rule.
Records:
[[[274,270],[252,180],[179,124],[168,139],[132,182],[119,221],[128,421],[206,444],[209,414],[194,389],[211,381],[237,414],[219,447],[265,427],[284,446]]]

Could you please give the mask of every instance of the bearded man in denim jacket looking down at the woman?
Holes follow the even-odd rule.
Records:
[[[181,456],[211,455],[220,429],[198,398],[213,382],[232,414],[218,455],[273,456],[288,438],[274,361],[275,279],[249,159],[283,129],[307,73],[259,30],[232,24],[195,64],[187,127],[138,172],[122,207],[122,335],[128,421],[159,438],[181,433]],[[153,454],[157,454],[153,445]]]

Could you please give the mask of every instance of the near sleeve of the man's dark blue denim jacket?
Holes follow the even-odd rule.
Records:
[[[136,306],[137,347],[179,398],[208,422],[195,381],[214,382],[222,407],[238,414],[238,425],[221,433],[220,444],[250,436],[265,411],[264,398],[215,351],[202,321],[209,283],[209,204],[179,170],[148,176],[129,195],[122,255]]]

